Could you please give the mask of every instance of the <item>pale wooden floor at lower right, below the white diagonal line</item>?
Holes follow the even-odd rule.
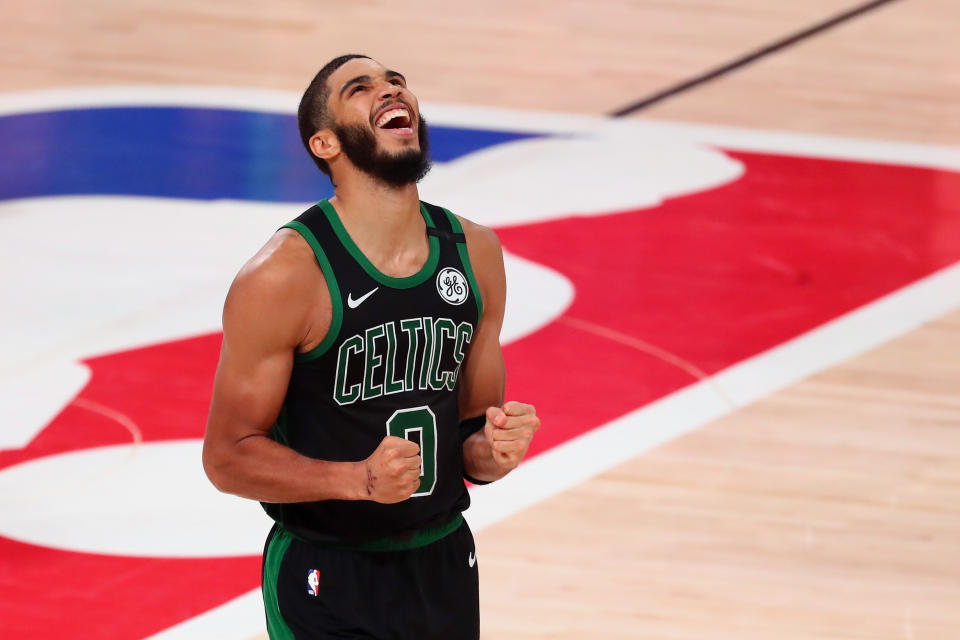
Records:
[[[958,353],[953,313],[484,531],[487,637],[957,637]]]

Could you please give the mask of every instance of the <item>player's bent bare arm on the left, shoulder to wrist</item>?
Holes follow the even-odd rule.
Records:
[[[308,458],[267,436],[309,327],[311,302],[317,303],[317,291],[326,291],[319,270],[304,269],[313,266],[312,254],[291,234],[272,239],[227,294],[204,470],[221,491],[264,502],[358,499],[365,483],[362,462]],[[329,307],[329,297],[325,302]]]

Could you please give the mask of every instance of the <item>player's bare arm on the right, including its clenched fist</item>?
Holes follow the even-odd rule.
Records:
[[[540,427],[532,406],[504,404],[506,373],[500,348],[500,329],[506,301],[503,250],[496,234],[461,219],[470,263],[483,297],[483,317],[477,326],[461,371],[460,419],[485,415],[484,427],[463,443],[464,471],[490,482],[505,476],[526,454]]]

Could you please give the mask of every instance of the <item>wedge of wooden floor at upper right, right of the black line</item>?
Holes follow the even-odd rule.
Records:
[[[900,0],[644,117],[957,144],[958,19],[952,0]]]

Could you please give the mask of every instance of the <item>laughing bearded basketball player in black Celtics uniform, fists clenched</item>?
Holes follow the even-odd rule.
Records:
[[[336,195],[227,294],[204,468],[275,520],[271,638],[478,638],[463,480],[503,477],[540,425],[503,402],[499,242],[419,200],[427,125],[400,73],[336,58],[298,122]]]

